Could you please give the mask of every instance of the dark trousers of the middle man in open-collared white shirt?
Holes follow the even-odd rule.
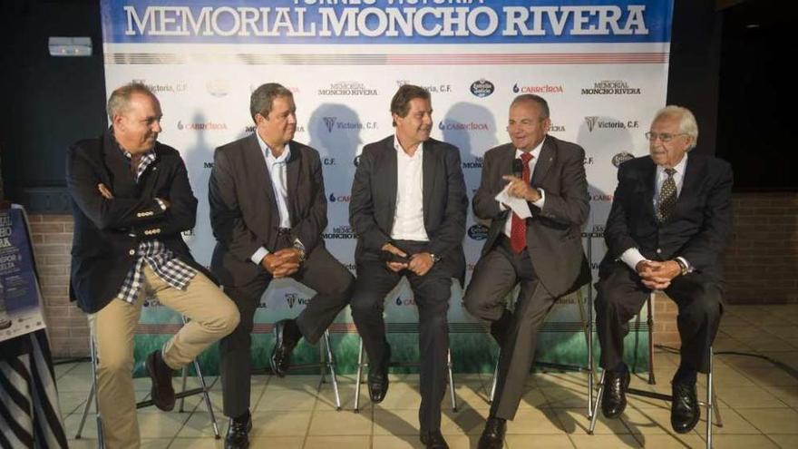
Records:
[[[397,246],[408,253],[423,252],[423,242],[397,241]],[[446,393],[446,353],[449,350],[449,297],[452,278],[434,264],[424,276],[410,270],[398,273],[388,269],[383,261],[358,262],[355,295],[352,298],[352,318],[369,360],[382,360],[385,353],[385,322],[383,319],[385,295],[407,277],[418,307],[418,348],[421,354],[419,380],[421,383],[421,408],[418,420],[421,431],[441,428],[441,401]]]

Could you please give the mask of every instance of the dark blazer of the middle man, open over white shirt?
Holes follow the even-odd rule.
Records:
[[[381,260],[381,248],[391,241],[396,210],[397,162],[394,136],[363,148],[352,183],[349,221],[357,233],[355,261]],[[443,258],[443,273],[465,277],[462,238],[468,198],[457,147],[429,139],[423,142],[423,221],[429,251]]]

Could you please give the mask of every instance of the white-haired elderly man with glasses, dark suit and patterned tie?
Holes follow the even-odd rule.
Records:
[[[600,365],[606,370],[601,409],[607,417],[623,413],[628,321],[652,290],[663,290],[679,308],[682,338],[671,425],[686,433],[700,416],[696,373],[709,369],[723,308],[720,257],[731,228],[732,169],[725,161],[687,152],[696,146],[698,126],[686,108],[657,112],[646,135],[651,154],[618,168],[604,229],[608,251],[596,284]]]

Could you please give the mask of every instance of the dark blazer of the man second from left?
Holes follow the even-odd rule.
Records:
[[[327,201],[318,152],[299,142],[288,142],[288,215],[291,234],[307,254],[324,246],[322,231],[327,226]],[[247,284],[267,273],[250,259],[264,247],[277,248],[280,214],[266,158],[258,137],[248,137],[220,146],[213,154],[208,198],[210,226],[216,248],[210,269],[223,285]]]

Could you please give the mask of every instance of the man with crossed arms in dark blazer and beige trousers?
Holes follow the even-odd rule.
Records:
[[[152,399],[174,406],[172,371],[238,325],[238,310],[191,258],[180,232],[192,229],[197,199],[180,153],[157,142],[161,105],[131,83],[108,100],[111,129],[67,151],[74,234],[70,298],[89,314],[97,390],[108,447],[139,447],[133,394],[133,334],[145,298],[190,317],[147,357]]]

